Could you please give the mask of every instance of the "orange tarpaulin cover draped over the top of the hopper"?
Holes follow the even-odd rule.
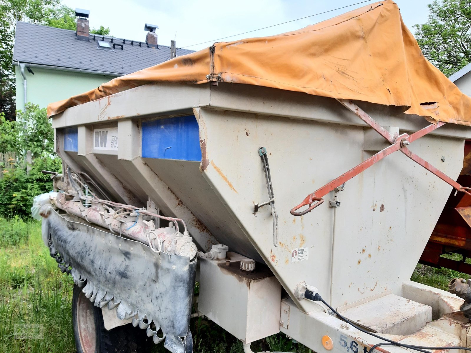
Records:
[[[215,43],[49,104],[48,115],[147,83],[210,81],[405,106],[429,121],[471,125],[471,98],[425,59],[391,0],[293,32]]]

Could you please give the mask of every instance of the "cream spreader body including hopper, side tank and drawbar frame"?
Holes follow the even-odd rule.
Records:
[[[391,133],[430,125],[399,107],[356,104]],[[409,281],[450,185],[392,153],[310,213],[290,213],[308,193],[390,145],[337,100],[242,84],[161,83],[71,107],[53,126],[65,164],[109,200],[145,207],[150,199],[165,216],[187,222],[199,250],[228,247],[222,262],[198,260],[199,310],[244,343],[279,330],[319,353],[328,350],[321,344],[327,334],[339,349],[349,337],[354,353],[377,343],[300,300],[296,288],[305,282],[354,320],[374,305],[395,306],[389,316],[358,318],[376,332],[425,330],[408,339],[462,344],[461,333],[443,329],[449,319],[434,321],[434,333],[427,324],[457,310],[460,300]],[[455,180],[469,138],[469,128],[446,124],[408,147]],[[269,200],[261,146],[278,246],[275,213],[254,209]],[[260,271],[235,271],[241,260],[251,264],[246,258]]]

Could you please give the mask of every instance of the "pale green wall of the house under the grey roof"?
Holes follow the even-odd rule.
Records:
[[[26,67],[24,68],[27,80],[26,98],[28,102],[38,104],[41,108],[47,107],[49,103],[97,88],[103,82],[114,78],[114,76],[37,67],[32,67],[31,69],[34,75],[28,72]],[[15,65],[15,72],[16,109],[23,110],[23,77],[18,65]]]

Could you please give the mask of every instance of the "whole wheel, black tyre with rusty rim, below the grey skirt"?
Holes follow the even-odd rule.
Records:
[[[130,324],[107,330],[101,309],[74,284],[72,296],[73,335],[77,353],[150,352],[152,337]]]

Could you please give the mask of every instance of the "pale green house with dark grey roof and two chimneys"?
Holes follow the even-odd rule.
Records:
[[[89,33],[88,11],[76,15],[76,32],[16,22],[16,109],[24,109],[25,102],[46,107],[115,77],[193,52],[158,44],[155,25],[146,24],[146,40],[128,40]]]

